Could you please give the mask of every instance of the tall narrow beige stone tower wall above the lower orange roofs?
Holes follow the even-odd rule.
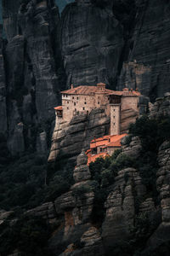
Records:
[[[111,135],[120,134],[120,105],[111,105]]]

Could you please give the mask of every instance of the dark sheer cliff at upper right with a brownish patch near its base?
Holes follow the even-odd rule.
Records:
[[[170,3],[136,0],[135,5],[118,88],[124,84],[139,87],[142,94],[154,100],[170,90]]]

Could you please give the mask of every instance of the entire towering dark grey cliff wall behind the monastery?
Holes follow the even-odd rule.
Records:
[[[3,1],[1,124],[12,154],[46,151],[59,91],[71,83],[139,87],[151,100],[167,92],[169,9],[167,1],[79,0],[60,18],[54,1]]]

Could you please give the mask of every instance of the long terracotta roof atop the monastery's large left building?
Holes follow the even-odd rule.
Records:
[[[81,85],[69,90],[61,91],[62,94],[73,94],[73,95],[90,95],[92,93],[99,92],[103,94],[110,94],[113,90],[104,89],[103,91],[98,90],[98,86]]]

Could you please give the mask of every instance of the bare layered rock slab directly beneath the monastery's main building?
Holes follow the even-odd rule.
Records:
[[[106,115],[105,109],[100,108],[89,114],[75,116],[70,124],[61,122],[54,129],[48,161],[77,156],[82,148],[89,148],[89,143],[94,137],[108,134],[109,127],[110,118]]]

